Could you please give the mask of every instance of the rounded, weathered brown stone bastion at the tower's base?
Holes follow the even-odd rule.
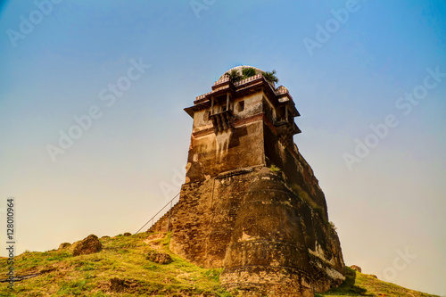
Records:
[[[239,289],[256,284],[269,296],[312,296],[313,288],[339,285],[343,261],[332,252],[338,242],[327,225],[285,186],[282,173],[261,169],[238,211],[222,283]],[[273,293],[277,283],[284,287]]]

